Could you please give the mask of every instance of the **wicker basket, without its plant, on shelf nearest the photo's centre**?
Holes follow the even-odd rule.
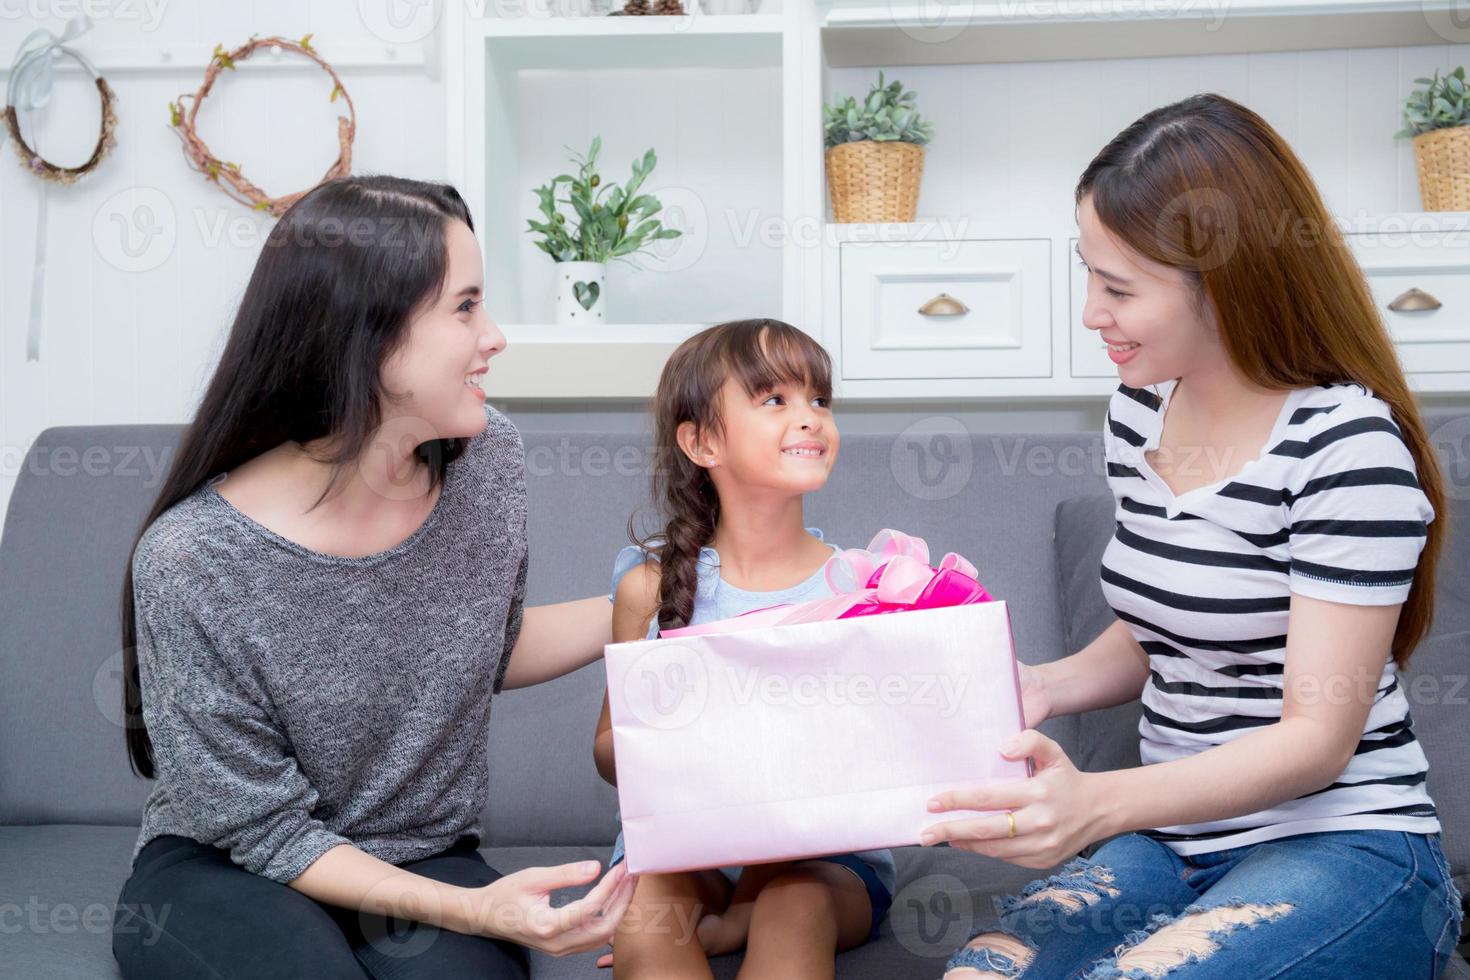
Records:
[[[919,210],[925,148],[860,140],[826,151],[832,220],[911,222]]]

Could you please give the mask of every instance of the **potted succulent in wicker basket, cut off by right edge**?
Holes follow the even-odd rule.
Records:
[[[1416,78],[1404,103],[1404,128],[1413,137],[1419,195],[1426,212],[1470,210],[1470,85],[1464,65],[1433,78]]]

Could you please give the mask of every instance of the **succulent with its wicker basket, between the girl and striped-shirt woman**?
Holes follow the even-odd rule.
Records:
[[[832,220],[911,222],[919,209],[925,145],[932,123],[914,110],[917,96],[883,81],[857,101],[822,106]]]

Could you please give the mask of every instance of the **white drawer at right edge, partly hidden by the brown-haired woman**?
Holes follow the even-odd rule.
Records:
[[[1411,375],[1470,370],[1470,232],[1423,231],[1345,235],[1367,275],[1379,316]],[[1419,288],[1436,310],[1395,311]]]

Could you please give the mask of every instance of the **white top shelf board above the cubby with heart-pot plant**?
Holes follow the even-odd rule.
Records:
[[[770,68],[782,15],[487,18],[475,24],[492,63],[510,69]]]

